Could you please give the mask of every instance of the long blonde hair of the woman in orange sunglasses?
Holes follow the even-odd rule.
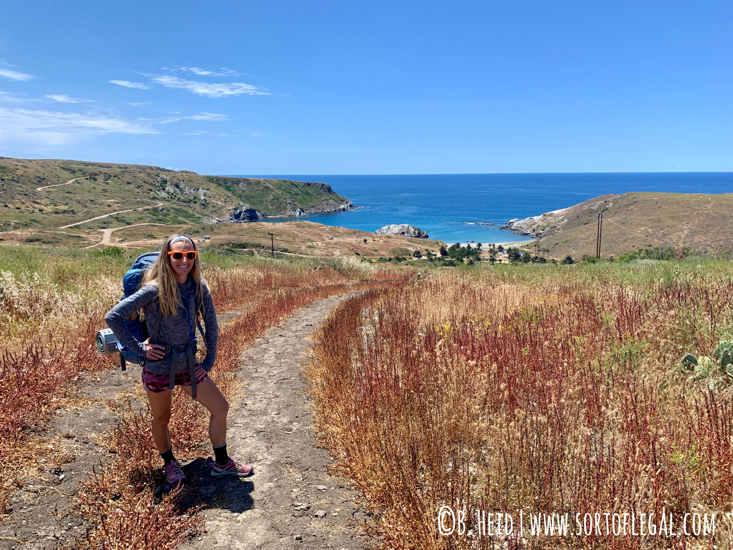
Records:
[[[186,241],[191,243],[194,250],[198,252],[196,243],[192,238],[185,235],[171,235],[163,241],[163,247],[161,248],[161,254],[158,256],[158,260],[152,265],[143,277],[143,285],[158,285],[158,300],[160,301],[160,312],[162,317],[169,317],[171,315],[177,315],[178,307],[183,306],[181,301],[180,292],[178,292],[178,285],[176,283],[175,272],[171,265],[171,257],[168,252],[171,249],[172,241],[180,241],[184,238]],[[203,294],[202,294],[202,279],[201,269],[199,266],[199,254],[196,254],[194,258],[194,266],[189,272],[191,279],[196,282],[196,294],[194,301],[196,303],[196,313],[198,314],[199,309],[203,309]]]

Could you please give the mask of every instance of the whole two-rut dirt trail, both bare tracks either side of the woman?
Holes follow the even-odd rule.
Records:
[[[202,535],[182,550],[361,548],[358,525],[368,518],[355,505],[361,494],[325,471],[331,458],[314,443],[300,370],[312,330],[345,298],[333,296],[301,309],[243,354],[237,378],[245,386],[231,403],[227,444],[230,454],[254,464],[254,476],[214,479],[210,456],[184,464],[186,491],[206,508]],[[249,307],[223,313],[219,322]],[[113,370],[93,378],[80,373],[87,384],[84,398],[79,406],[60,410],[46,434],[73,461],[39,463],[36,477],[23,480],[6,510],[9,518],[0,524],[0,550],[59,549],[90,527],[76,513],[73,496],[92,467],[108,461],[108,453],[94,442],[98,433],[116,425],[105,401],[133,397],[139,375],[139,367],[130,364],[125,373]]]

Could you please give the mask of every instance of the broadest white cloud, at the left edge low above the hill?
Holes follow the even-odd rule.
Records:
[[[73,144],[105,133],[160,133],[150,125],[89,111],[59,113],[0,107],[0,142]]]

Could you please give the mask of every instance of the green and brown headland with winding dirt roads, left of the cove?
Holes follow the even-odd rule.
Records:
[[[353,208],[327,183],[5,157],[0,157],[0,197],[0,232],[97,230],[140,223],[200,225]]]

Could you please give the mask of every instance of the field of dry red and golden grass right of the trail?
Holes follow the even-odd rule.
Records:
[[[731,547],[731,384],[679,370],[730,329],[730,279],[643,291],[564,279],[444,276],[352,298],[320,329],[308,371],[318,424],[384,546],[708,547],[532,538],[527,524],[524,541],[516,529],[476,538],[476,510],[516,522],[521,509],[526,521],[568,513],[571,532],[578,512],[716,512],[710,545]],[[465,510],[474,537],[439,535],[442,505]]]

